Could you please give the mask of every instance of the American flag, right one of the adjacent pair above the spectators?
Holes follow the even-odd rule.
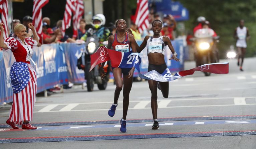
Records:
[[[77,29],[80,27],[79,22],[84,14],[83,0],[76,0],[75,2],[75,14],[73,15],[73,32],[74,35],[78,35]],[[79,37],[81,38],[81,37]]]

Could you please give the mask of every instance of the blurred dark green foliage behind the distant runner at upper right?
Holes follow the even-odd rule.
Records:
[[[185,22],[186,29],[193,31],[197,25],[198,16],[204,16],[211,23],[216,33],[220,36],[218,45],[221,53],[225,53],[230,45],[235,46],[233,38],[234,30],[239,26],[240,19],[245,20],[245,26],[249,29],[251,39],[247,41],[246,56],[256,54],[256,1],[255,0],[178,0],[189,10],[190,19]],[[223,55],[222,54],[222,55]]]

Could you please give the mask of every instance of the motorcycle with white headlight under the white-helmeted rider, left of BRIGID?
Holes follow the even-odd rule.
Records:
[[[110,72],[110,61],[106,62],[103,69],[106,73],[106,77],[104,79],[100,76],[100,66],[98,64],[95,66],[90,72],[91,68],[91,58],[90,55],[95,53],[99,48],[99,38],[95,36],[88,37],[86,40],[86,50],[83,52],[82,56],[77,60],[78,69],[84,70],[84,77],[86,79],[87,90],[93,91],[94,83],[97,84],[99,90],[105,90],[107,87],[107,82],[109,80],[109,72]]]

